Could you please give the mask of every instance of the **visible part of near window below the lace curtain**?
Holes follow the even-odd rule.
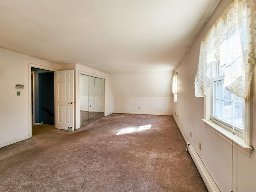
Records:
[[[245,100],[224,88],[224,71],[218,62],[211,62],[211,121],[244,138]]]

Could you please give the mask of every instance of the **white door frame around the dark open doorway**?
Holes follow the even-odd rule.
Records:
[[[53,72],[58,70],[55,68],[50,68],[50,67],[46,67],[46,66],[42,66],[42,65],[28,63],[28,85],[29,85],[28,86],[28,125],[29,125],[28,133],[29,133],[29,137],[32,137],[31,67],[38,68],[38,69],[44,69],[44,70],[48,70],[48,71],[53,71]],[[55,73],[54,73],[54,76],[55,76]],[[54,102],[55,102],[55,96],[54,96]]]

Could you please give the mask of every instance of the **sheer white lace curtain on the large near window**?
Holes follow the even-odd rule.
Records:
[[[246,99],[256,61],[256,0],[233,0],[202,38],[195,95],[210,86],[210,63],[224,71],[224,87]]]

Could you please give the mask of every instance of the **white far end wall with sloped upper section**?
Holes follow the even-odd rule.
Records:
[[[114,112],[172,115],[172,76],[173,71],[112,74]]]

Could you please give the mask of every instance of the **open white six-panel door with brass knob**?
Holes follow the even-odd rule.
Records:
[[[55,72],[55,128],[74,130],[74,70]]]

